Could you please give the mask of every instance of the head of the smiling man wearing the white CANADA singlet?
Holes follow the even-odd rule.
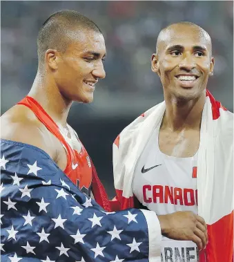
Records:
[[[185,100],[182,104],[189,108],[197,99],[203,100],[204,105],[205,89],[213,68],[211,37],[205,30],[184,22],[160,32],[156,53],[152,55],[152,70],[162,81],[167,104],[175,97]],[[182,118],[180,112],[178,115]]]

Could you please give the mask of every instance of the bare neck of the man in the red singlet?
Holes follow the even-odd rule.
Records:
[[[28,95],[41,104],[52,120],[63,127],[66,126],[72,101],[61,95],[52,79],[37,73]]]

